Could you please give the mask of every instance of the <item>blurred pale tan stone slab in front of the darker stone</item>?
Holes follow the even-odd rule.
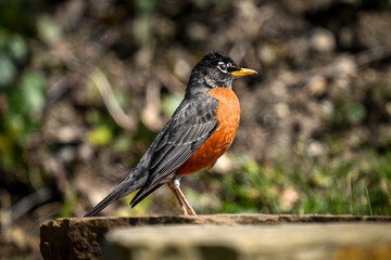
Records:
[[[390,224],[176,225],[116,229],[112,259],[391,259]]]

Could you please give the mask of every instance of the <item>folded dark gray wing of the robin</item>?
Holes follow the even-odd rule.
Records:
[[[131,200],[131,207],[160,187],[211,136],[217,127],[216,108],[217,100],[206,94],[180,104],[154,144],[148,180]]]

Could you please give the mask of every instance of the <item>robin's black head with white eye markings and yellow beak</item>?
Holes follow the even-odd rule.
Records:
[[[255,70],[241,68],[222,51],[204,55],[191,70],[187,94],[205,92],[212,88],[232,88],[235,78],[254,75]]]

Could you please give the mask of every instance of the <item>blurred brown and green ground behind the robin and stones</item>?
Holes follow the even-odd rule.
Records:
[[[192,66],[223,50],[241,123],[199,213],[391,214],[389,0],[0,2],[1,259],[39,259],[39,224],[83,217],[137,162]],[[102,216],[178,214],[162,187]]]

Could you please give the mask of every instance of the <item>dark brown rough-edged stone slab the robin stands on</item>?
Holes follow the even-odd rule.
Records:
[[[289,216],[289,214],[214,214],[161,216],[141,218],[70,218],[40,226],[43,259],[93,259],[101,255],[101,244],[110,230],[119,226],[150,225],[265,225],[278,223],[384,222],[391,217],[363,216]],[[387,224],[387,226],[391,226]],[[266,229],[265,227],[265,229]],[[391,233],[391,231],[389,231]]]

